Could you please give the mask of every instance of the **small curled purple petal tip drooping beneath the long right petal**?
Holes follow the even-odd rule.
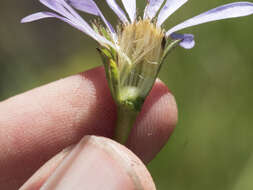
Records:
[[[185,49],[192,49],[195,46],[194,35],[173,33],[170,37],[174,40],[181,40],[179,45]]]

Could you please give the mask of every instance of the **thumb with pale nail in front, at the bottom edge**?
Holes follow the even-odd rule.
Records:
[[[155,190],[152,177],[140,159],[108,138],[86,136],[69,149],[63,160],[53,160],[20,190]]]

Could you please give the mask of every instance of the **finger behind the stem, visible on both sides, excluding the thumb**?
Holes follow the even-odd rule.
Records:
[[[116,117],[103,68],[0,103],[0,189],[17,189],[43,163],[84,135],[111,137]],[[128,146],[147,163],[177,121],[175,100],[161,82],[155,84],[137,120]]]

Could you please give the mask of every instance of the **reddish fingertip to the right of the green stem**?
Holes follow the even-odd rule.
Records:
[[[177,120],[176,100],[167,86],[157,80],[133,127],[128,147],[144,163],[150,162],[168,141]]]

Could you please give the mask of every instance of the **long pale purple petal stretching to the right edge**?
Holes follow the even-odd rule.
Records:
[[[215,9],[209,10],[205,13],[202,13],[198,16],[195,16],[191,19],[184,21],[181,24],[174,26],[170,29],[166,36],[170,34],[182,30],[184,28],[188,28],[191,26],[203,24],[206,22],[212,22],[216,20],[235,18],[235,17],[243,17],[253,14],[253,3],[250,2],[236,2],[226,4]]]

